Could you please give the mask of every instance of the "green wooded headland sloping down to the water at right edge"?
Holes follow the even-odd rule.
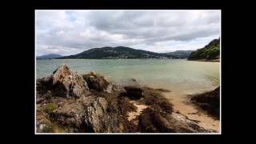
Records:
[[[202,49],[193,51],[188,60],[213,60],[220,58],[219,38],[212,40],[208,45]]]

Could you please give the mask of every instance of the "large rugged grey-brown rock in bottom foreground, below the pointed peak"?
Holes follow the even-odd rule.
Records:
[[[54,110],[50,118],[63,126],[75,127],[78,132],[122,132],[118,107],[108,104],[105,98],[82,96]]]

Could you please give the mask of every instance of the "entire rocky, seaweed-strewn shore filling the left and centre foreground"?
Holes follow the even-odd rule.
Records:
[[[96,72],[81,76],[62,65],[50,77],[37,79],[37,131],[210,132],[175,114],[159,91],[114,86]]]

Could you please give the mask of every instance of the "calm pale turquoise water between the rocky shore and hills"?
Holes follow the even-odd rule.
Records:
[[[80,74],[94,70],[120,84],[129,84],[130,78],[136,78],[142,85],[174,91],[210,90],[220,82],[219,62],[180,59],[37,60],[36,77],[50,76],[62,63]]]

